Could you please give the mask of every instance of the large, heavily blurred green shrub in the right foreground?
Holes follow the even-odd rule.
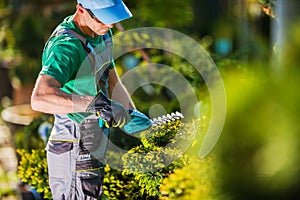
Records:
[[[222,188],[232,199],[299,196],[297,66],[292,73],[276,78],[266,73],[235,72],[225,79],[227,122],[216,155],[222,168]],[[284,67],[294,66],[283,66],[282,71],[288,69]]]

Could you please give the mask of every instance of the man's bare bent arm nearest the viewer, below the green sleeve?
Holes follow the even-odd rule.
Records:
[[[39,75],[31,96],[32,109],[50,114],[84,112],[93,100],[92,96],[67,94],[60,87],[53,77]]]

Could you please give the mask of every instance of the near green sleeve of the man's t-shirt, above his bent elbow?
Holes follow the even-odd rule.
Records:
[[[76,43],[76,41],[75,41]],[[49,75],[62,85],[74,77],[78,68],[79,52],[75,43],[59,43],[51,45],[43,52],[42,70],[40,74]],[[79,43],[80,45],[80,43]]]

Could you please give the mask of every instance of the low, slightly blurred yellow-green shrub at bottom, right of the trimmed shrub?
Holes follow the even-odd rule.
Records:
[[[217,199],[218,169],[212,156],[193,157],[182,168],[175,169],[160,186],[161,200]]]

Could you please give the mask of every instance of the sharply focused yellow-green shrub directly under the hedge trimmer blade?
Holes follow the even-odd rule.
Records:
[[[199,119],[184,124],[171,120],[141,134],[142,145],[123,156],[123,175],[132,175],[139,187],[140,196],[135,199],[161,197],[159,188],[163,180],[188,163],[185,150],[188,146],[196,146],[193,141],[204,130],[201,123],[205,121]]]

